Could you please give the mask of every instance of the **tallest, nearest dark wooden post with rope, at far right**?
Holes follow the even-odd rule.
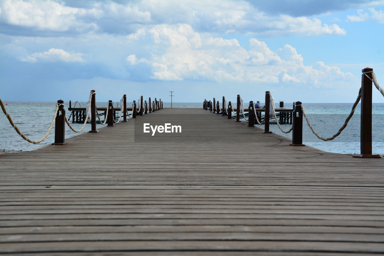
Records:
[[[372,68],[361,70],[360,154],[353,157],[380,158],[372,154],[372,71]]]

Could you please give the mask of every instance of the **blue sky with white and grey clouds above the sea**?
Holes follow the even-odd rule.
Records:
[[[384,0],[0,0],[0,98],[351,103],[383,42]]]

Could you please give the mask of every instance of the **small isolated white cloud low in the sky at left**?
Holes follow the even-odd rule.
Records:
[[[63,49],[51,48],[47,52],[35,52],[27,57],[20,58],[23,62],[84,62],[83,53],[69,53]]]

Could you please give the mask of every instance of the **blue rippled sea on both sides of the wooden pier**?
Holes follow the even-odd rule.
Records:
[[[55,102],[46,101],[4,101],[6,109],[12,117],[19,130],[32,140],[39,140],[48,130],[55,111]],[[78,103],[82,107],[86,102]],[[118,103],[114,103],[116,106]],[[262,105],[263,103],[261,103]],[[279,108],[276,104],[276,110]],[[291,108],[285,105],[286,108]],[[127,103],[129,105],[129,103]],[[164,108],[169,108],[171,103],[164,102]],[[343,126],[346,117],[351,111],[353,103],[303,103],[306,113],[310,118],[311,124],[319,135],[330,137]],[[74,106],[74,103],[72,103]],[[77,105],[79,106],[79,105]],[[97,102],[97,107],[105,107],[105,102]],[[174,108],[202,108],[202,103],[172,103]],[[68,106],[66,105],[67,109]],[[66,111],[67,118],[71,112]],[[372,153],[384,154],[384,103],[372,104]],[[68,118],[69,120],[69,118]],[[244,120],[243,120],[244,121]],[[71,124],[76,130],[82,124]],[[99,128],[102,125],[97,124]],[[263,125],[255,125],[263,128]],[[289,130],[292,125],[282,124],[283,130]],[[87,124],[81,133],[88,132],[91,125]],[[270,131],[281,136],[292,138],[291,133],[285,134],[280,131],[275,121],[271,121]],[[16,133],[3,113],[0,113],[0,149],[30,151],[42,146],[50,145],[54,141],[54,128],[51,134],[39,144],[28,143]],[[66,126],[66,138],[70,138],[78,133],[74,133]],[[354,116],[348,126],[337,138],[331,141],[319,140],[310,130],[305,120],[303,120],[303,144],[318,148],[323,151],[354,154],[360,153],[360,104],[357,106]]]

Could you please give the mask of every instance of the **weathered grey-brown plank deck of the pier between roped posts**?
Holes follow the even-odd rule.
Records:
[[[3,255],[384,254],[384,159],[262,134],[202,109],[179,140],[134,120],[0,157]],[[183,119],[183,120],[181,120]]]

